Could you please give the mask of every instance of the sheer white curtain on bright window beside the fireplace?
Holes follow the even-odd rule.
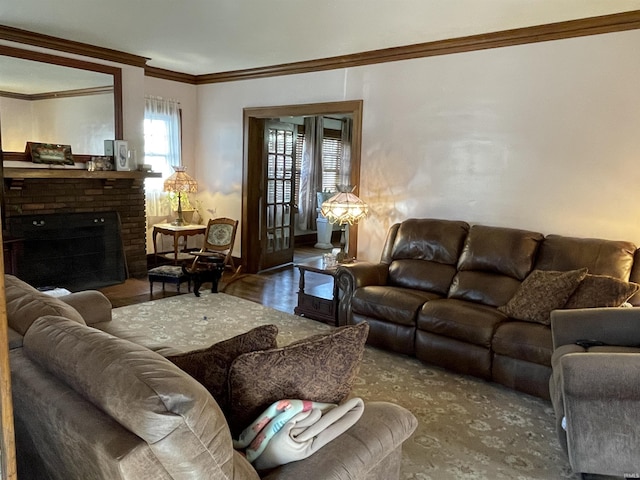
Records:
[[[161,97],[145,96],[144,109],[144,163],[152,165],[162,178],[145,181],[147,217],[170,216],[171,206],[163,183],[173,173],[174,166],[182,164],[180,143],[180,103]]]

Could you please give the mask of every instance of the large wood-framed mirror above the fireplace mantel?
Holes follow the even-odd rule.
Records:
[[[120,68],[0,45],[0,137],[5,162],[25,159],[26,142],[103,155],[122,138]]]

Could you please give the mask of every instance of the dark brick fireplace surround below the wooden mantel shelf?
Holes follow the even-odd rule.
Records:
[[[12,219],[17,216],[117,212],[128,276],[146,276],[146,217],[142,178],[8,178],[4,203],[5,229],[9,233]]]

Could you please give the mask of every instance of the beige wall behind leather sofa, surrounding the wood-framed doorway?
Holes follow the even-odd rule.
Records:
[[[200,197],[240,217],[244,107],[363,99],[360,258],[409,217],[640,245],[638,44],[628,31],[199,86]]]

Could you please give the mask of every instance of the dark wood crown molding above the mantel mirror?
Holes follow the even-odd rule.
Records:
[[[74,42],[63,38],[44,35],[42,33],[7,27],[6,25],[0,25],[0,39],[141,68],[144,68],[147,60],[149,60],[148,58],[133,55],[131,53],[120,52],[110,48],[96,47],[95,45],[89,45],[87,43]]]

